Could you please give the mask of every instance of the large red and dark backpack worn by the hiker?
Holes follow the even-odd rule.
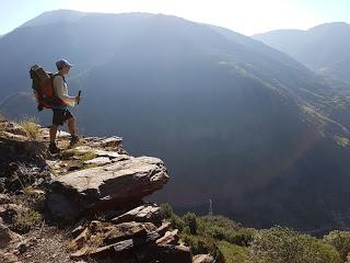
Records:
[[[55,94],[54,79],[58,75],[45,71],[39,65],[32,66],[30,75],[38,111],[43,111],[44,107],[52,108],[54,106],[66,105]]]

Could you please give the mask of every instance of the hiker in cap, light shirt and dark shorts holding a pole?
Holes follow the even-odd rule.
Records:
[[[50,145],[49,152],[58,153],[60,149],[56,145],[57,127],[68,123],[68,129],[71,134],[70,146],[75,145],[79,141],[79,137],[75,134],[77,124],[75,118],[69,111],[68,106],[74,106],[80,102],[80,96],[69,96],[67,90],[67,82],[65,76],[69,73],[70,68],[73,65],[69,64],[66,59],[58,60],[56,67],[58,72],[54,77],[54,92],[62,101],[62,105],[52,106],[54,117],[52,125],[50,127]]]

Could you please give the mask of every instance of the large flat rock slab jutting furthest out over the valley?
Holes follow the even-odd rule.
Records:
[[[122,207],[140,202],[167,181],[162,160],[138,157],[61,175],[51,183],[51,190],[75,202],[82,209],[107,204]]]

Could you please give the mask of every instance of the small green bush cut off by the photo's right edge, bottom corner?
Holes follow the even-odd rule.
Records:
[[[350,232],[338,230],[331,231],[324,237],[324,241],[337,249],[342,261],[347,260],[347,256],[350,253]]]

